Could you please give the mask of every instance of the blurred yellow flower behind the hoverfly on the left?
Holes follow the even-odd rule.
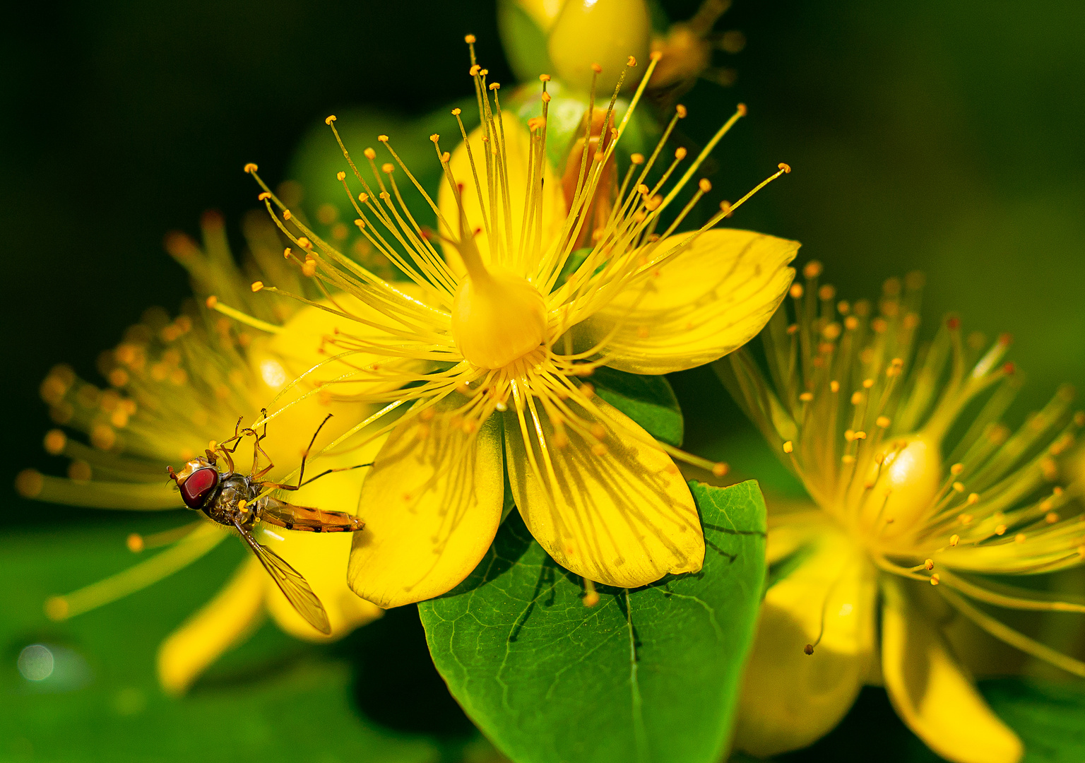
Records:
[[[292,278],[279,265],[282,258],[275,228],[263,216],[258,219],[250,220],[246,231],[254,259],[251,269]],[[207,296],[215,291],[256,317],[246,316],[248,326],[239,327],[229,317],[195,306],[175,320],[163,310],[149,310],[141,323],[126,332],[124,342],[102,356],[101,370],[110,382],[104,391],[78,379],[66,366],[54,368],[41,385],[42,396],[53,419],[86,432],[90,446],[59,429],[49,432],[46,448],[72,458],[68,479],[25,471],[17,481],[24,495],[111,509],[181,508],[176,488],[166,479],[166,465],[179,468],[208,447],[209,441],[230,436],[239,417],[253,423],[263,407],[272,410],[261,445],[277,465],[269,476],[275,479],[285,478],[297,467],[302,449],[328,412],[335,418],[324,428],[317,448],[327,444],[329,434],[342,434],[363,416],[358,404],[332,403],[289,384],[319,359],[312,352],[312,338],[329,330],[327,314],[253,298],[232,263],[217,215],[205,216],[204,240],[206,253],[180,234],[170,237],[167,247],[192,274],[197,293]],[[294,281],[303,288],[299,279]],[[253,332],[251,327],[261,330]],[[271,405],[277,396],[278,405]],[[314,466],[365,463],[372,460],[378,445],[372,443],[368,452],[326,455]],[[239,470],[247,470],[245,450],[242,447],[234,454]],[[292,494],[291,500],[353,513],[365,471],[329,474]],[[260,525],[254,532],[307,578],[328,611],[331,635],[306,623],[259,561],[248,557],[226,587],[162,645],[158,675],[166,690],[187,689],[220,653],[245,638],[265,612],[283,631],[314,641],[341,637],[379,615],[376,607],[358,599],[346,586],[349,539],[345,534],[278,532]],[[50,599],[47,613],[66,619],[126,596],[199,559],[229,535],[203,514],[175,531],[132,535],[128,546],[133,551],[169,548],[105,581]]]

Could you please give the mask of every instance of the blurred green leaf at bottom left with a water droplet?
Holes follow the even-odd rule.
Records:
[[[446,751],[458,754],[447,739],[393,730],[360,716],[357,687],[373,677],[354,674],[357,666],[345,659],[343,644],[305,645],[270,624],[225,654],[188,696],[164,696],[155,678],[158,645],[245,558],[239,543],[224,543],[114,603],[62,623],[46,620],[48,596],[136,561],[125,548],[129,532],[184,521],[190,517],[169,512],[4,537],[0,575],[17,584],[7,588],[0,608],[5,663],[0,695],[8,698],[0,713],[0,760],[438,763]],[[52,672],[41,681],[16,670],[22,651],[34,645],[52,654]],[[477,747],[470,738],[457,745],[464,742]]]

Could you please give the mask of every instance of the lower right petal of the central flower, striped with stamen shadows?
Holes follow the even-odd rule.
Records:
[[[701,569],[704,536],[693,497],[671,458],[647,444],[647,432],[601,399],[592,400],[595,411],[569,399],[589,429],[602,425],[603,436],[582,436],[566,424],[567,443],[559,447],[538,402],[536,418],[521,400],[522,418],[505,414],[509,482],[527,529],[554,561],[624,588]]]

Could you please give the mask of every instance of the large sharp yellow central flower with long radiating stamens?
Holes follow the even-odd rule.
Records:
[[[597,193],[608,192],[599,178],[654,60],[621,122],[611,99],[603,124],[612,128],[593,156],[584,152],[566,209],[545,158],[546,77],[541,116],[525,130],[502,116],[499,85],[487,81],[473,46],[471,54],[482,127],[455,155],[432,136],[447,180],[439,204],[398,161],[387,136],[378,140],[391,162],[379,166],[376,152],[365,150],[372,179],[344,148],[360,186],[355,195],[346,173],[339,174],[356,225],[410,282],[376,277],[312,233],[266,186],[260,194],[304,254],[298,264],[356,298],[354,308],[329,307],[339,323],[324,340],[331,357],[321,372],[341,373],[324,390],[397,412],[409,408],[379,430],[390,435],[362,487],[366,530],[355,535],[350,587],[395,607],[462,581],[502,519],[502,463],[532,533],[588,581],[633,587],[699,570],[704,542],[697,509],[667,454],[717,465],[658,444],[582,380],[603,365],[666,373],[716,359],[755,335],[783,298],[797,243],[712,230],[729,205],[701,228],[675,233],[707,180],[672,221],[662,217],[743,110],[668,188],[685,150],[667,161],[661,143],[649,158],[636,157],[613,189],[613,212],[588,229],[593,243],[576,262],[575,242],[592,225],[585,213]],[[679,107],[664,140],[682,115]],[[327,119],[333,130],[334,120]],[[590,114],[585,124],[592,124]],[[460,129],[467,140],[462,123]],[[436,213],[439,232],[416,222],[397,168]],[[255,175],[255,165],[246,169]],[[447,262],[433,243],[438,237],[452,253]]]

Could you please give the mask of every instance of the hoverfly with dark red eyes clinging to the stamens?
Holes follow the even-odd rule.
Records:
[[[264,410],[261,414],[263,418],[267,419],[267,411]],[[354,467],[328,469],[305,480],[305,461],[309,450],[317,442],[320,430],[330,418],[332,418],[331,414],[320,422],[320,427],[317,427],[317,431],[312,434],[309,447],[303,453],[296,485],[268,482],[261,479],[275,468],[271,458],[260,447],[260,441],[267,436],[267,423],[264,424],[264,433],[257,434],[256,430],[252,428],[241,429],[241,419],[238,419],[233,436],[224,443],[214,445],[214,449],[205,450],[206,457],[197,456],[186,463],[180,472],[175,472],[173,467],[166,467],[170,479],[177,483],[184,505],[190,509],[203,511],[210,520],[219,524],[237,530],[256,558],[264,564],[264,569],[271,575],[279,589],[282,590],[286,600],[312,627],[323,634],[331,633],[331,623],[328,621],[328,612],[324,611],[317,595],[312,593],[308,582],[286,560],[258,543],[253,537],[252,531],[256,522],[266,522],[283,530],[310,533],[353,533],[366,526],[360,519],[344,511],[322,511],[308,506],[296,506],[266,493],[266,491],[277,489],[296,491],[331,472],[371,466],[359,463]],[[248,474],[242,474],[234,471],[233,454],[242,441],[250,435],[253,437],[253,467]],[[231,443],[233,447],[228,447]],[[219,469],[218,456],[216,455],[218,453],[225,457],[225,471]],[[264,456],[268,462],[263,469],[258,469],[260,456]]]

